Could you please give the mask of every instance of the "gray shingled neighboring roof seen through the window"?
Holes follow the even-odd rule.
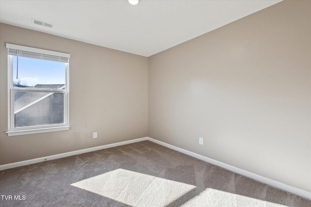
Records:
[[[42,89],[61,89],[65,84],[36,84],[33,88]],[[51,96],[54,93],[42,92],[17,92],[23,93],[17,100],[14,101],[14,113],[26,109],[27,107],[35,104],[36,102]]]

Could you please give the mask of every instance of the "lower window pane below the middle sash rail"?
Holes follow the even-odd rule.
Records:
[[[64,124],[64,93],[15,92],[14,127]]]

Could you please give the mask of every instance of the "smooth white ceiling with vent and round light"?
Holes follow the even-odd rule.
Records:
[[[280,1],[0,0],[0,22],[149,57]]]

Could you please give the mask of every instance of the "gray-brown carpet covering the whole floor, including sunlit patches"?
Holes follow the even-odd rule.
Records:
[[[1,207],[311,207],[150,141],[1,171],[0,194]]]

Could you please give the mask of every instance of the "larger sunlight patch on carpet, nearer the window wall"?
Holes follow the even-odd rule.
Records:
[[[194,185],[124,169],[71,185],[135,207],[165,206],[196,188]]]

